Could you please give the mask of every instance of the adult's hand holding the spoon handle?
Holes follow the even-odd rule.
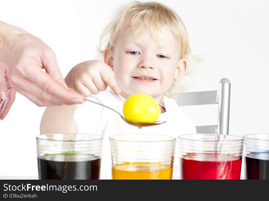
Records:
[[[84,95],[68,89],[50,47],[18,27],[3,22],[0,25],[6,28],[0,54],[8,65],[9,84],[14,90],[37,106],[84,102]]]

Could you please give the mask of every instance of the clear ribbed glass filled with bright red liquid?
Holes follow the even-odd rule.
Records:
[[[240,179],[242,151],[239,136],[179,136],[181,179]]]

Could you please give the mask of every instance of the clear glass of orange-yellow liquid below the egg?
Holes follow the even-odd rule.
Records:
[[[172,179],[175,137],[125,134],[109,141],[112,179]]]

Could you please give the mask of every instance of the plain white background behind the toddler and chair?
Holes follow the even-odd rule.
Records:
[[[65,76],[74,65],[95,58],[102,29],[126,1],[0,2],[0,20],[47,43]],[[202,59],[193,67],[195,86],[190,91],[217,90],[221,78],[228,78],[230,134],[268,133],[268,1],[160,2],[179,13],[192,53]],[[216,124],[216,109],[183,108],[196,125]],[[37,175],[35,137],[44,110],[17,94],[9,114],[0,120],[0,176]]]

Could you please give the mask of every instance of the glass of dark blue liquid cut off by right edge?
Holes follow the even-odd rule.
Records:
[[[269,134],[244,135],[246,179],[269,179]]]

